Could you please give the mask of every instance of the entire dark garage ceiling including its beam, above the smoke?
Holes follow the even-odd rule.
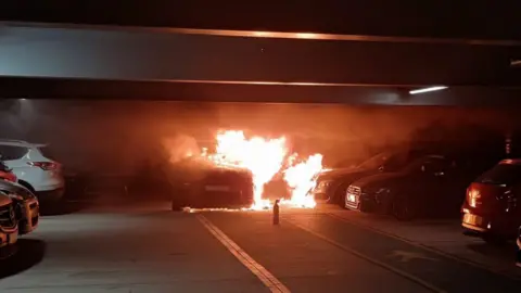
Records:
[[[521,88],[521,68],[510,66],[521,59],[519,1],[4,2],[4,98],[135,99],[139,92],[171,100],[504,105],[517,102]],[[168,27],[351,39],[187,35]],[[246,85],[252,81],[278,85]],[[407,89],[430,85],[450,90],[427,100],[404,97]]]

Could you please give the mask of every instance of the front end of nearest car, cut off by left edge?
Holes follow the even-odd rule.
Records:
[[[13,201],[0,192],[0,255],[7,246],[16,243],[18,225],[14,212]]]

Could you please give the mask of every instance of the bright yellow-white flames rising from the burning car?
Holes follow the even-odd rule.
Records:
[[[288,154],[287,140],[284,137],[265,139],[253,137],[247,139],[243,131],[227,130],[217,133],[215,154],[207,155],[216,164],[234,165],[247,168],[253,175],[254,205],[253,209],[269,208],[269,200],[263,199],[264,186],[274,176],[282,171],[284,180],[291,189],[291,200],[282,201],[298,207],[314,207],[315,201],[308,194],[315,186],[315,177],[320,173],[322,155],[315,154],[307,160],[300,161],[298,155]],[[206,154],[206,150],[202,151]],[[205,155],[206,156],[206,155]],[[282,169],[284,161],[287,169]],[[298,163],[297,163],[298,162]]]

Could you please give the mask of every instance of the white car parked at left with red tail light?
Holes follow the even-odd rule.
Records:
[[[46,144],[0,139],[0,155],[18,183],[33,191],[40,202],[54,202],[64,193],[65,180],[60,163],[47,157]]]

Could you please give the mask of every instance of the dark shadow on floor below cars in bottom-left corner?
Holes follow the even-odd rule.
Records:
[[[14,276],[39,264],[46,255],[46,242],[36,239],[20,239],[16,252],[0,260],[0,279]]]

